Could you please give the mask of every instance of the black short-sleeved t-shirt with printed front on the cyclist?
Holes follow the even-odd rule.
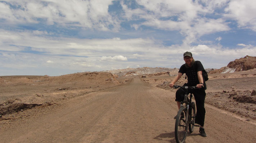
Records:
[[[189,86],[196,86],[199,84],[199,80],[197,77],[197,71],[202,71],[204,70],[204,66],[200,61],[195,61],[193,66],[191,68],[186,68],[185,64],[180,66],[179,73],[186,73],[188,77],[188,85]]]

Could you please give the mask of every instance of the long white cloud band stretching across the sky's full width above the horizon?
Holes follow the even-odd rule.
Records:
[[[35,34],[36,33],[36,34]],[[238,48],[227,49],[221,45],[172,45],[164,46],[154,39],[78,39],[78,38],[47,38],[38,36],[40,31],[5,31],[0,30],[0,47],[13,47],[12,51],[0,54],[1,67],[15,67],[17,64],[24,67],[47,66],[52,68],[68,68],[76,70],[108,70],[110,67],[115,69],[125,68],[126,66],[138,67],[138,61],[128,60],[139,59],[142,66],[166,66],[182,64],[182,57],[185,51],[191,51],[193,56],[215,57],[221,62],[225,58],[241,58],[241,55],[253,55],[256,53],[255,46],[238,44]],[[42,32],[44,33],[44,32]],[[10,39],[10,40],[8,40]],[[33,40],[31,40],[33,39]],[[218,38],[220,39],[220,38]],[[11,45],[11,46],[10,46]],[[244,46],[242,49],[240,46]],[[33,53],[22,53],[24,48],[30,47],[36,52],[43,52],[44,55]],[[64,55],[64,56],[63,56]],[[67,56],[65,56],[67,55]],[[116,55],[116,56],[105,56]],[[125,55],[125,56],[124,56]],[[229,56],[226,56],[229,55]],[[50,61],[54,63],[49,64]],[[234,60],[234,59],[232,59]],[[30,62],[28,62],[30,61]],[[48,64],[46,63],[48,61]],[[125,61],[125,64],[115,65],[116,61]],[[26,65],[24,65],[25,63]],[[127,64],[126,64],[127,63]],[[218,62],[216,62],[218,63]],[[20,67],[22,67],[20,66]],[[173,65],[174,66],[174,65]],[[213,65],[212,65],[213,66]],[[215,67],[212,67],[215,68]],[[50,74],[48,74],[50,75]]]

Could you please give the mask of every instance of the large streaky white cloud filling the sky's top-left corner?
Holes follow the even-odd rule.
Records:
[[[40,23],[48,25],[73,25],[85,28],[95,28],[108,31],[108,26],[114,25],[113,30],[119,29],[119,22],[108,14],[108,6],[112,0],[81,1],[81,0],[48,0],[27,1],[10,0],[0,3],[0,18],[12,23]]]

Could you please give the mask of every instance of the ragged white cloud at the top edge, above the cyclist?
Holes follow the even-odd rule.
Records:
[[[228,0],[214,2],[209,0],[195,2],[138,0],[137,3],[143,5],[144,8],[129,9],[127,5],[122,4],[125,18],[145,19],[143,23],[133,24],[134,29],[137,30],[140,26],[146,25],[161,30],[178,30],[186,36],[183,40],[184,44],[191,44],[205,34],[230,30],[228,23],[222,18],[207,19],[200,16],[212,14],[216,8],[223,8]],[[162,18],[167,18],[167,20],[162,20]]]

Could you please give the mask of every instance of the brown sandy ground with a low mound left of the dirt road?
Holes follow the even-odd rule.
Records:
[[[5,76],[0,77],[1,119],[20,110],[36,106],[55,104],[83,94],[128,83],[128,79],[116,80],[110,73],[88,72],[48,76]]]

